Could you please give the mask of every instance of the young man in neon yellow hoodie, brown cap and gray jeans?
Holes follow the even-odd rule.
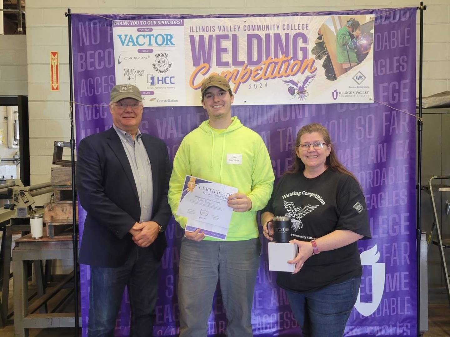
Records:
[[[261,253],[256,214],[270,199],[274,173],[261,137],[231,117],[234,96],[228,81],[211,75],[201,92],[209,120],[186,135],[176,152],[168,193],[172,213],[177,212],[186,175],[237,187],[238,193],[228,198],[234,212],[225,241],[205,236],[200,229],[184,232],[178,281],[180,337],[207,336],[217,280],[228,319],[226,335],[253,336],[253,290]],[[187,218],[175,219],[185,228]]]

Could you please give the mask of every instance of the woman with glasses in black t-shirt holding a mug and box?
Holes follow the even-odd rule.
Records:
[[[355,176],[338,160],[321,124],[297,133],[293,167],[275,187],[261,223],[291,217],[298,246],[294,272],[278,272],[303,336],[342,336],[359,292],[362,267],[356,241],[369,239],[365,198]]]

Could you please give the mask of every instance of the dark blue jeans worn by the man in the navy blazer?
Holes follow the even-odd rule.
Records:
[[[89,337],[114,337],[125,286],[131,306],[130,336],[153,335],[160,262],[148,248],[136,246],[123,266],[90,267]]]

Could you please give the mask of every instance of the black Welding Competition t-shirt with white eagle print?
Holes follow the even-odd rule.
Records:
[[[320,176],[286,173],[261,212],[290,216],[293,239],[311,241],[335,230],[349,230],[370,239],[365,198],[356,180],[327,169]],[[362,275],[356,242],[308,258],[295,275],[278,272],[277,284],[298,292],[312,292]]]

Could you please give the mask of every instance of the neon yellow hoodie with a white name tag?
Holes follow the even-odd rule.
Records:
[[[186,175],[237,187],[252,200],[252,209],[231,217],[226,241],[239,241],[258,237],[256,213],[270,199],[275,177],[261,137],[236,116],[231,120],[224,132],[216,132],[205,120],[184,137],[173,160],[168,200],[175,215]],[[242,164],[228,164],[227,154],[242,155]],[[188,219],[175,215],[175,220],[184,228]]]

